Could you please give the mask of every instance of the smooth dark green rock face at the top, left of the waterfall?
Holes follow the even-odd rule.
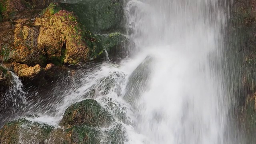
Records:
[[[76,4],[60,4],[77,14],[79,21],[93,33],[124,30],[122,0],[83,0]]]

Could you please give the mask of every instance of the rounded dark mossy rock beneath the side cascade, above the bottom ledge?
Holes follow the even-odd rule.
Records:
[[[86,124],[87,126],[107,126],[114,119],[96,100],[87,99],[68,107],[60,122],[61,126]]]

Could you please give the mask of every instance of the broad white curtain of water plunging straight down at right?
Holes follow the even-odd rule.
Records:
[[[136,102],[139,143],[225,143],[218,1],[132,0],[126,12],[136,46],[154,57],[148,90]]]

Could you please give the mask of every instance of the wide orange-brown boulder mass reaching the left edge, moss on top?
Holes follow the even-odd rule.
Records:
[[[96,57],[102,49],[76,15],[62,10],[58,3],[51,3],[35,20],[17,22],[14,30],[6,30],[0,38],[4,63],[78,64]]]

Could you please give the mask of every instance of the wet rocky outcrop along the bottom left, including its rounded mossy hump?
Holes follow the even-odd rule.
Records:
[[[37,115],[26,117],[37,118]],[[20,118],[7,122],[0,129],[0,143],[47,144],[121,144],[127,140],[125,128],[113,123],[110,113],[96,100],[88,99],[70,106],[62,118],[62,127]],[[112,123],[110,128],[100,129]]]

